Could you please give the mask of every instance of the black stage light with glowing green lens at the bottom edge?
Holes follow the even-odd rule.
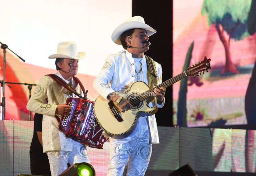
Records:
[[[75,163],[59,176],[95,176],[95,170],[89,163]]]

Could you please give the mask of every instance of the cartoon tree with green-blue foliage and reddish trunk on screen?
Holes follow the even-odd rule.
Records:
[[[226,63],[221,71],[239,73],[230,53],[230,39],[242,40],[249,35],[247,29],[251,0],[204,0],[202,15],[207,15],[208,25],[215,25],[225,49]],[[225,33],[226,32],[226,33]]]

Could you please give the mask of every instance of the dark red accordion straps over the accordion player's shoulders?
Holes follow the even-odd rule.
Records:
[[[83,98],[83,99],[86,98],[85,88],[82,85],[81,81],[77,77],[73,76],[73,79],[78,82],[78,84],[80,85],[85,97],[82,97],[82,95],[80,95],[76,90],[74,90],[73,87],[71,87],[65,81],[63,81],[63,79],[61,79],[59,76],[57,76],[55,74],[49,74],[49,75],[45,75],[45,76],[50,76],[51,78],[53,78],[54,81],[56,81],[58,84],[62,85],[64,88],[66,88],[67,90],[69,90],[72,93],[74,93],[75,95],[77,95],[79,98]],[[57,115],[55,115],[55,118],[57,119],[58,122],[60,122],[60,118]]]

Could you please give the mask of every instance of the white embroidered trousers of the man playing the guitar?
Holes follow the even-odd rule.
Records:
[[[146,118],[139,118],[132,134],[123,139],[109,138],[108,176],[122,176],[129,158],[128,176],[143,176],[150,161],[152,144]]]

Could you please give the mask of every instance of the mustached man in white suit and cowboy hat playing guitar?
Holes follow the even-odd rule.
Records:
[[[145,24],[144,18],[134,16],[124,21],[112,33],[112,41],[122,45],[125,50],[107,56],[104,66],[94,80],[93,86],[107,102],[114,102],[119,108],[120,115],[138,108],[137,104],[131,105],[126,98],[118,94],[118,92],[129,92],[130,86],[136,85],[136,81],[143,81],[152,88],[150,107],[157,106],[161,108],[164,105],[166,88],[154,88],[154,86],[161,83],[161,65],[144,55],[144,52],[149,50],[149,36],[155,32],[153,28]],[[134,82],[135,84],[133,84]],[[139,87],[136,89],[139,93],[146,91],[140,90]],[[96,103],[97,99],[95,105]],[[99,113],[95,109],[96,117],[97,114]],[[105,118],[108,118],[109,121],[113,119],[113,117]],[[105,129],[104,126],[102,127]],[[123,126],[120,123],[116,128],[123,128]],[[131,131],[128,130],[129,135],[124,136],[124,138],[115,136],[105,129],[106,134],[110,136],[109,176],[123,175],[128,160],[127,175],[144,175],[146,172],[152,144],[159,143],[155,115],[143,117],[138,115],[135,126],[131,129]]]

